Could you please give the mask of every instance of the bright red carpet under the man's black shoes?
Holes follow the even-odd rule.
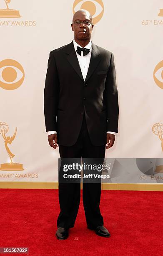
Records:
[[[102,191],[110,238],[86,228],[81,202],[69,238],[57,240],[58,190],[0,189],[0,208],[0,247],[29,247],[29,256],[163,255],[163,192]]]

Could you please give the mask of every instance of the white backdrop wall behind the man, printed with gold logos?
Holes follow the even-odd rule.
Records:
[[[88,1],[78,2],[80,9]],[[0,63],[13,59],[25,73],[15,90],[8,90],[8,83],[4,89],[0,82],[0,122],[8,124],[6,136],[13,136],[17,127],[8,147],[15,154],[13,161],[24,168],[0,170],[0,181],[58,181],[59,150],[48,145],[43,91],[49,52],[73,40],[73,4],[74,0],[11,0],[9,8],[19,10],[21,17],[3,18],[6,5],[0,0]],[[119,133],[105,157],[162,158],[161,141],[152,127],[163,123],[163,87],[153,79],[155,66],[163,61],[163,16],[158,16],[163,14],[163,1],[103,0],[103,5],[92,41],[114,54],[120,106]],[[97,13],[100,10],[98,5]],[[161,82],[162,70],[163,65],[155,74]],[[0,164],[7,162],[10,158],[0,134]]]

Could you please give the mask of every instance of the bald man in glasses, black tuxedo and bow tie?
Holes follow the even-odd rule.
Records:
[[[118,93],[113,54],[90,41],[93,20],[78,10],[71,24],[74,40],[50,52],[44,90],[45,126],[60,158],[104,158],[118,133]],[[107,144],[107,146],[106,146]],[[109,237],[100,213],[101,183],[83,183],[87,227]],[[80,184],[59,182],[56,236],[68,238],[80,204]]]

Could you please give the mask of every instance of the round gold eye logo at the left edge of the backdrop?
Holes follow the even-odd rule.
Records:
[[[5,90],[15,90],[24,81],[24,69],[18,61],[4,59],[0,61],[0,87]]]

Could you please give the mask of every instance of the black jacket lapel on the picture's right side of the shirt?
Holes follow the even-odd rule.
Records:
[[[93,74],[95,68],[97,67],[100,61],[100,51],[98,50],[97,46],[92,42],[92,54],[90,57],[90,64],[87,72],[87,76],[85,77],[85,82],[90,78]]]

